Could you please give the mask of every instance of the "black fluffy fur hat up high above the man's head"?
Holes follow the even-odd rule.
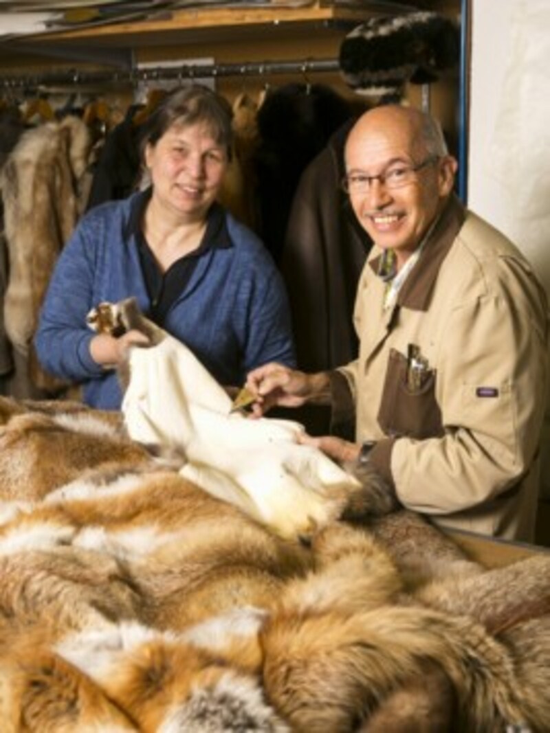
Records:
[[[435,12],[370,18],[340,46],[346,84],[358,94],[379,97],[400,97],[407,81],[436,81],[459,58],[458,25]]]

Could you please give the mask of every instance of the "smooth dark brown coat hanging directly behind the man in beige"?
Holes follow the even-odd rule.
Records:
[[[293,315],[300,369],[323,372],[358,353],[353,305],[372,242],[357,221],[340,181],[344,144],[355,118],[345,122],[301,176],[290,209],[281,270]],[[334,430],[329,408],[304,405],[297,419],[312,435]],[[353,439],[354,425],[342,426]]]

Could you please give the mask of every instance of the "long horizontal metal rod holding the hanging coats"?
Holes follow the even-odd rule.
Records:
[[[301,74],[309,83],[309,73],[331,73],[340,69],[337,59],[303,59],[293,61],[254,61],[228,64],[182,64],[170,67],[134,67],[129,70],[79,71],[64,70],[43,74],[0,76],[0,92],[21,89],[47,91],[54,86],[85,86],[87,84],[138,84],[139,82],[169,81],[174,79],[217,78],[222,76],[269,76]]]

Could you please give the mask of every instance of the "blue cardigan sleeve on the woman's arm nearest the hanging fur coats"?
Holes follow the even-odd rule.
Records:
[[[86,316],[92,307],[94,259],[88,227],[82,219],[57,261],[34,338],[43,368],[75,381],[104,373],[89,353],[94,334]]]

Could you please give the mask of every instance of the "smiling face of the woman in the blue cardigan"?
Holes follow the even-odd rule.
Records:
[[[145,148],[155,203],[193,221],[216,199],[227,162],[227,151],[203,123],[172,125]]]

